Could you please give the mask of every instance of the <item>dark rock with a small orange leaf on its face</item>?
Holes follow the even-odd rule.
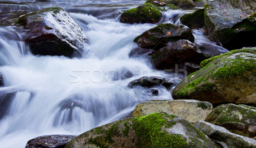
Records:
[[[194,42],[195,38],[187,26],[165,23],[151,28],[134,39],[141,48],[159,50],[177,40],[189,40]]]

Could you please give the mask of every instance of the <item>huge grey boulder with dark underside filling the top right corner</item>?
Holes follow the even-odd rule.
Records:
[[[209,35],[225,48],[256,46],[255,0],[208,0],[204,9]]]

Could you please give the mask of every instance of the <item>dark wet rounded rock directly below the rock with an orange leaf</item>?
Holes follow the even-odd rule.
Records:
[[[208,54],[199,50],[190,41],[178,40],[151,55],[151,63],[157,69],[172,69],[175,68],[175,64],[182,65],[184,62],[200,64],[208,58]]]

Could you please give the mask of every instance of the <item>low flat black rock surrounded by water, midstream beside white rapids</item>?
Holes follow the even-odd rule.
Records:
[[[132,88],[134,86],[142,87],[153,87],[158,85],[163,85],[169,88],[174,82],[172,80],[162,78],[162,77],[141,77],[140,79],[133,80],[128,84],[128,87]]]

